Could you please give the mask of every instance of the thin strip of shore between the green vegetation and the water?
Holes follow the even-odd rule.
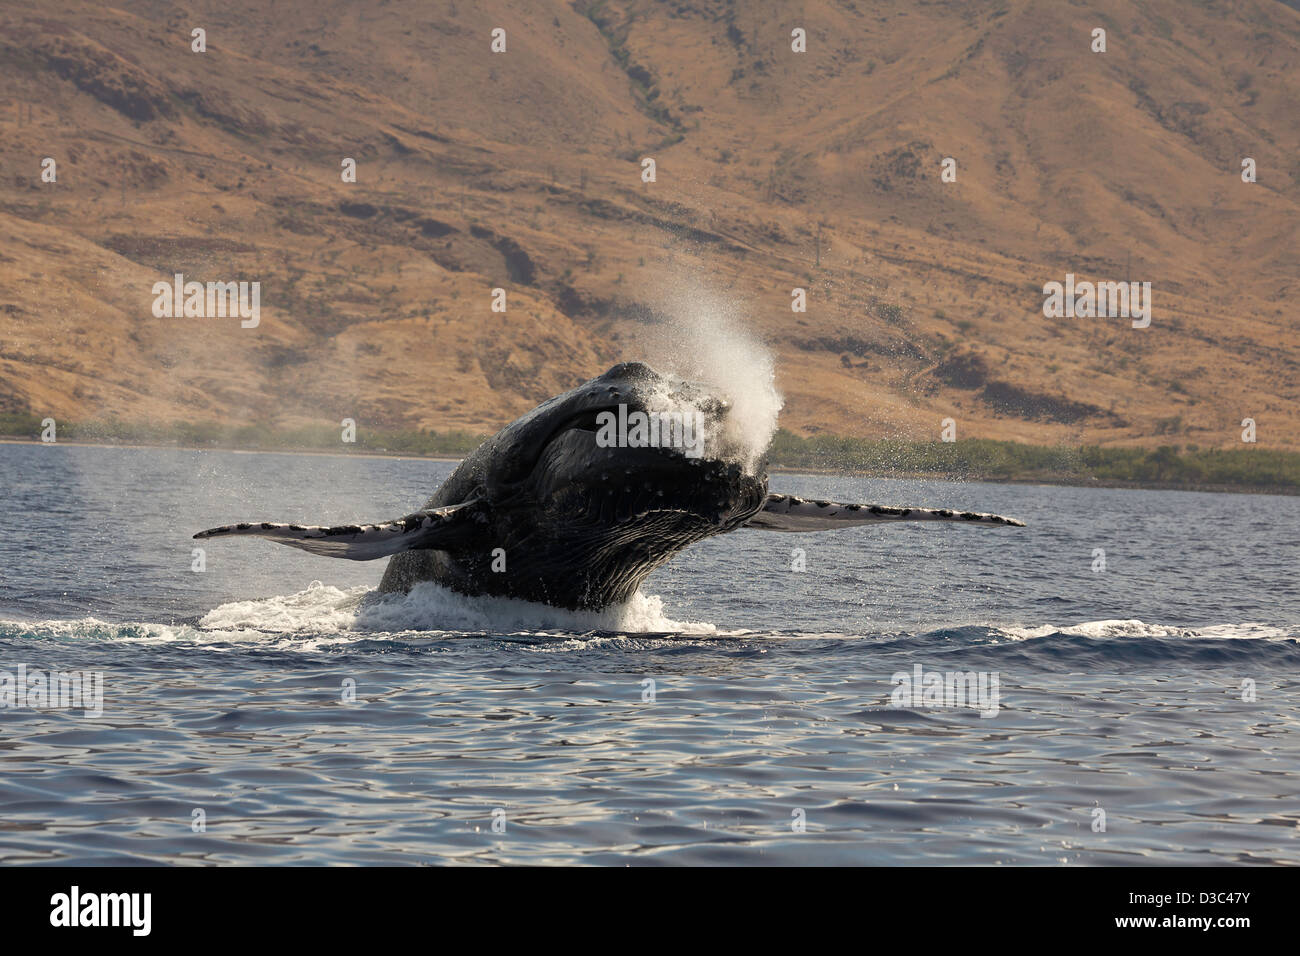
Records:
[[[57,442],[43,442],[39,438],[30,438],[21,434],[0,434],[0,445],[66,445],[73,447],[108,447],[108,449],[172,449],[177,451],[229,451],[242,455],[315,455],[318,458],[380,458],[380,459],[420,459],[426,462],[458,463],[464,455],[451,457],[439,454],[396,453],[396,451],[328,451],[312,447],[240,447],[233,445],[186,445],[183,442],[142,442],[142,441],[84,441],[60,440]],[[1292,485],[1245,485],[1204,483],[1188,484],[1175,481],[1126,481],[1119,479],[1097,479],[1084,475],[1057,476],[1050,473],[1026,473],[1017,476],[958,476],[944,472],[920,471],[866,471],[861,468],[826,468],[819,466],[793,466],[770,464],[767,471],[775,475],[819,475],[844,476],[866,479],[894,479],[902,481],[950,481],[968,483],[979,481],[985,484],[1006,485],[1053,485],[1065,488],[1112,488],[1138,492],[1204,492],[1212,494],[1277,494],[1297,496],[1300,488]]]

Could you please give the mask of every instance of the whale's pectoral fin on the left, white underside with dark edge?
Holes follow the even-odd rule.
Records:
[[[480,502],[416,511],[406,518],[378,524],[339,524],[332,528],[309,524],[276,524],[272,522],[246,522],[224,528],[200,531],[195,537],[225,537],[251,535],[278,545],[300,548],[326,558],[373,561],[398,551],[437,550],[455,546],[476,531],[482,519]]]

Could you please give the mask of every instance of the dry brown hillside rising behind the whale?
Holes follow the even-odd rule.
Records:
[[[1297,88],[1275,0],[5,1],[0,412],[486,431],[703,298],[798,433],[1296,449]]]

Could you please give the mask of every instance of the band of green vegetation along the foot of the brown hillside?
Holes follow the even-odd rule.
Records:
[[[0,437],[40,442],[35,415],[0,415]],[[361,454],[459,459],[488,436],[464,431],[358,429],[354,444],[332,427],[272,428],[216,424],[139,425],[120,421],[58,423],[57,440],[77,445],[143,445]],[[1014,441],[965,438],[924,442],[896,438],[800,437],[776,433],[768,453],[772,471],[868,475],[963,481],[1011,481],[1109,488],[1300,494],[1300,451],[1244,445],[1201,449],[1196,445],[1043,446]]]

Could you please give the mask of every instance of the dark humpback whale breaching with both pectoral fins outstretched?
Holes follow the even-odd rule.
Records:
[[[659,441],[611,442],[602,431],[632,412],[682,410],[703,425],[703,447],[681,429]],[[751,528],[816,532],[892,522],[1017,525],[1014,518],[950,509],[805,501],[767,490],[766,460],[728,442],[725,397],[702,384],[623,363],[543,402],[488,438],[425,506],[393,520],[334,527],[244,522],[194,537],[263,537],[352,561],[391,557],[381,592],[437,581],[493,594],[599,610],[630,598],[677,551]],[[671,412],[670,412],[671,415]],[[604,440],[602,440],[604,438]],[[692,454],[693,451],[693,454]]]

